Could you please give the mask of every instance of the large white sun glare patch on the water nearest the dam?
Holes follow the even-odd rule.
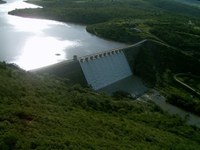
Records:
[[[77,45],[72,41],[59,41],[53,37],[30,38],[15,63],[25,70],[32,70],[65,60],[65,48]]]

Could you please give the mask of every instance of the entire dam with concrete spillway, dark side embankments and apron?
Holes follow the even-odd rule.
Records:
[[[132,61],[133,54],[140,49],[140,45],[144,42],[146,40],[125,48],[101,51],[82,57],[75,55],[72,60],[32,70],[32,72],[53,74],[73,84],[79,83],[99,91],[106,89],[105,91],[109,91],[109,93],[128,90],[127,92],[137,96],[146,88],[139,78],[133,76],[134,68],[130,68],[129,63]],[[124,83],[121,82],[127,78],[128,80]],[[120,85],[123,85],[125,89],[120,88]]]

